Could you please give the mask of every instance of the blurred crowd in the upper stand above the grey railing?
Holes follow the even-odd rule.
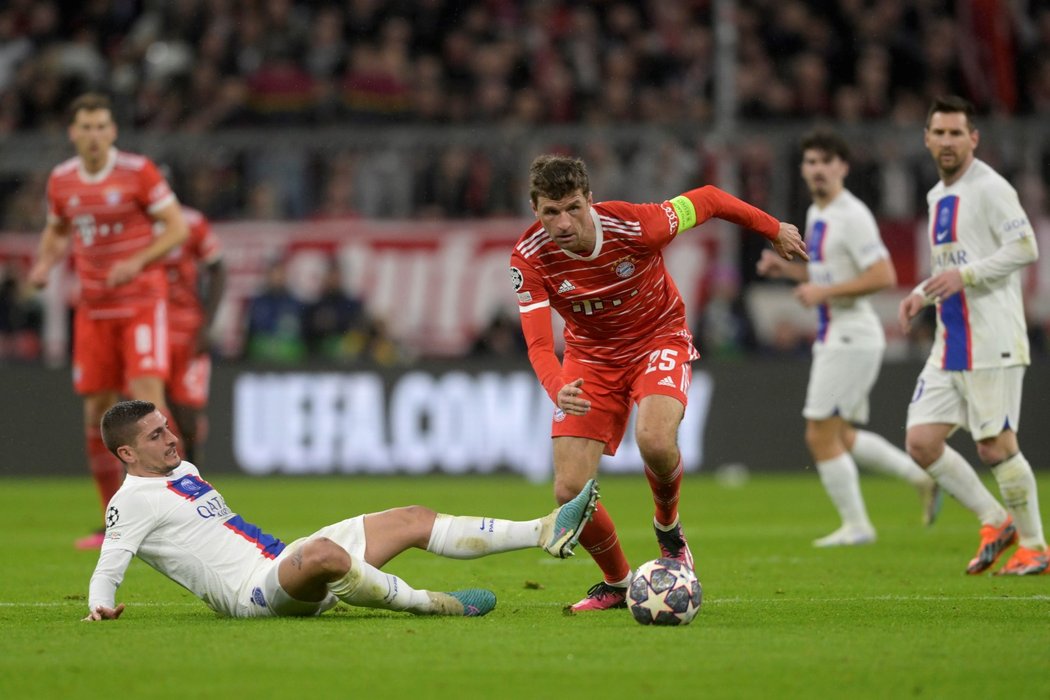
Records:
[[[1038,0],[739,0],[740,115],[1050,112]],[[713,0],[7,0],[0,131],[70,96],[135,128],[415,122],[704,123]]]

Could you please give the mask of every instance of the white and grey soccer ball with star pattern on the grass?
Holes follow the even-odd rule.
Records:
[[[639,624],[689,624],[702,599],[700,579],[674,559],[646,561],[627,589],[627,606]]]

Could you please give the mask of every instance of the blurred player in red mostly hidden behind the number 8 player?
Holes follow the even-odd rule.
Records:
[[[182,210],[189,238],[164,258],[171,360],[168,404],[183,439],[183,453],[190,462],[200,464],[201,446],[207,433],[204,408],[211,379],[208,332],[226,289],[226,268],[218,238],[205,215],[185,206]],[[155,230],[161,232],[163,228],[158,224]]]

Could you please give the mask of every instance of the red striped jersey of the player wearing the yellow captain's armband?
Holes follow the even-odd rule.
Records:
[[[660,252],[678,232],[673,208],[605,201],[591,216],[596,240],[587,256],[563,251],[539,221],[519,239],[510,264],[522,314],[553,306],[565,320],[566,352],[595,364],[636,360],[654,339],[689,338]]]

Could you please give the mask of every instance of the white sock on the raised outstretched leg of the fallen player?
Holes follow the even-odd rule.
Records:
[[[453,559],[472,559],[537,547],[543,521],[542,517],[519,522],[438,513],[426,551]]]

